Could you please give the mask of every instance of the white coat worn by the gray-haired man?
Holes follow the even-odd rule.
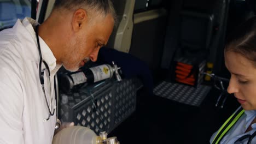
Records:
[[[0,32],[0,143],[48,144],[54,135],[55,116],[49,115],[39,81],[39,53],[36,33],[30,19],[18,20],[13,28]],[[51,71],[52,106],[55,106],[54,81],[60,65],[40,39],[43,59]],[[49,76],[44,75],[48,101]]]

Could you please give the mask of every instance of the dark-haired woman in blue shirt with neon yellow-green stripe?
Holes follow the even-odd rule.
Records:
[[[227,91],[241,106],[212,135],[210,143],[256,143],[256,17],[230,34],[224,56],[231,73]]]

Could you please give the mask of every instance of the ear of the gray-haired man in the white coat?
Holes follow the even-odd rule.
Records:
[[[88,15],[84,9],[75,10],[72,20],[73,30],[79,31],[88,22]]]

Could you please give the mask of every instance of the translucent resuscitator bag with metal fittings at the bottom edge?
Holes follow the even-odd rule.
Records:
[[[107,133],[97,136],[94,131],[82,126],[62,129],[53,138],[52,144],[119,144],[117,137],[107,138]]]

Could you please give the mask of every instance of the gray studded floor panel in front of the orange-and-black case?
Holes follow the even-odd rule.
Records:
[[[195,88],[181,83],[162,81],[154,88],[154,94],[159,97],[178,101],[179,103],[200,106],[211,88],[211,86],[205,85],[199,85]]]

